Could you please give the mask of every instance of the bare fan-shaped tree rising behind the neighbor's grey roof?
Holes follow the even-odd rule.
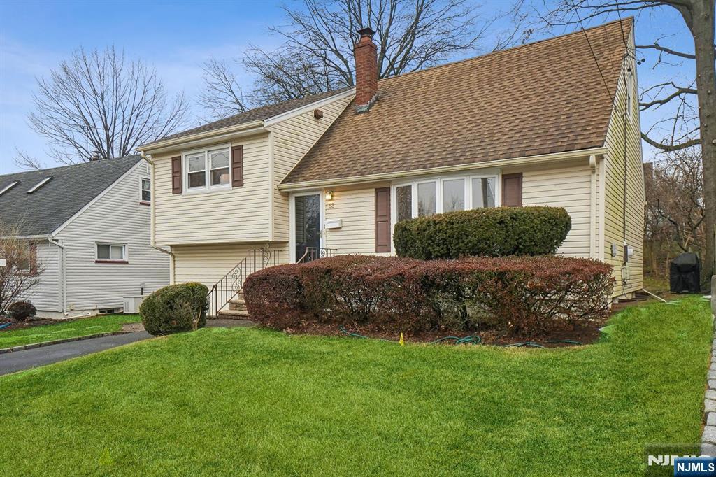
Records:
[[[37,87],[29,124],[67,164],[131,154],[181,127],[188,109],[183,94],[168,101],[156,72],[114,47],[77,50]]]

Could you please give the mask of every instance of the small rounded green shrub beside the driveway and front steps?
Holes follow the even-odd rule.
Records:
[[[200,283],[165,286],[150,294],[139,309],[148,333],[158,336],[192,331],[206,324],[209,289]]]

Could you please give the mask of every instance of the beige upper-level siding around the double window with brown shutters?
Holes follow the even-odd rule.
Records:
[[[154,159],[156,244],[218,244],[269,239],[269,134],[237,139],[232,145],[243,145],[243,186],[221,191],[173,194],[171,158],[182,151]]]

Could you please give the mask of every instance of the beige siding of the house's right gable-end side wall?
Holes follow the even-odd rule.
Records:
[[[633,47],[634,40],[630,39]],[[632,68],[633,69],[633,68]],[[626,85],[623,72],[617,89],[614,111],[606,135],[605,173],[605,217],[604,217],[604,260],[614,266],[616,286],[614,294],[628,294],[643,287],[644,261],[644,173],[642,163],[642,141],[639,134],[639,113],[637,107],[637,81],[632,82],[631,121],[627,122],[626,198],[624,214],[624,105]],[[624,259],[624,218],[627,224],[627,244],[634,247],[634,256],[629,259],[629,281],[621,281],[621,264]],[[611,244],[616,244],[617,254],[611,256]]]

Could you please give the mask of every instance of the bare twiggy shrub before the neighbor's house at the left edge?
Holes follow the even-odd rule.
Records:
[[[39,284],[44,267],[37,262],[34,244],[18,238],[21,226],[0,221],[0,313],[19,299],[27,299],[33,286]]]

